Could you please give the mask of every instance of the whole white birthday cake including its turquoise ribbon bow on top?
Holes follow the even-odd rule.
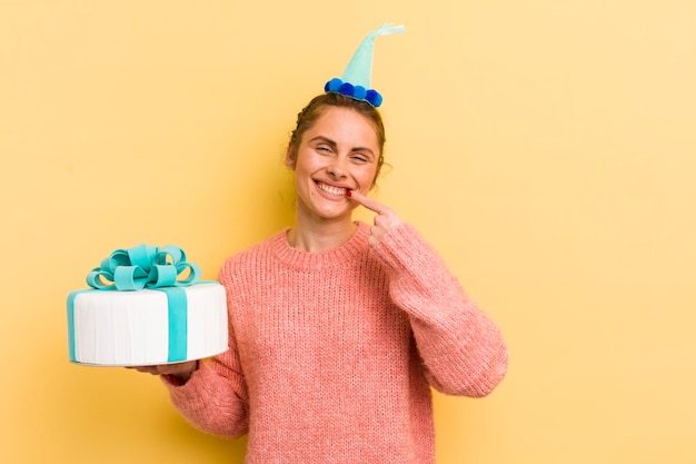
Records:
[[[171,245],[113,251],[88,274],[91,288],[68,295],[70,361],[145,366],[226,352],[225,288],[199,277]]]

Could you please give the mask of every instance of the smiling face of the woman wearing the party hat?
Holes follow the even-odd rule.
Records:
[[[372,188],[380,155],[367,117],[347,107],[326,107],[286,157],[295,171],[298,214],[350,220],[356,204],[346,192],[367,194]]]

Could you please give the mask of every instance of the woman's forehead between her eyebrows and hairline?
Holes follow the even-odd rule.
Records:
[[[351,108],[328,107],[305,136],[306,140],[324,136],[337,144],[379,147],[372,121]]]

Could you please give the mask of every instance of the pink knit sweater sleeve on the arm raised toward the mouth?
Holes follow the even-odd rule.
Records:
[[[450,395],[489,394],[507,372],[496,324],[411,225],[389,230],[372,249],[386,266],[390,298],[409,316],[430,385]]]

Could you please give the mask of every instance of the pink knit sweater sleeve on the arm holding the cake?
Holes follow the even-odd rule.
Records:
[[[173,406],[195,427],[228,438],[249,430],[249,394],[241,374],[232,326],[230,348],[198,364],[188,382],[177,385],[162,376]]]

